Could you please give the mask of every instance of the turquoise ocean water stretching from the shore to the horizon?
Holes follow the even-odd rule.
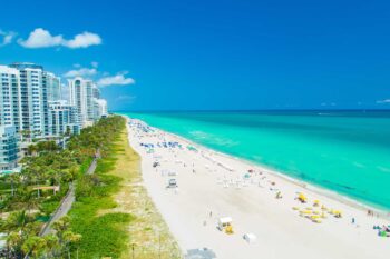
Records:
[[[390,209],[389,111],[123,114]]]

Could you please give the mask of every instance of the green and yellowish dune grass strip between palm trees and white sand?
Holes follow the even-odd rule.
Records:
[[[182,258],[176,241],[142,183],[138,155],[127,131],[109,156],[98,161],[96,176],[78,181],[70,210],[71,228],[81,233],[79,258]]]

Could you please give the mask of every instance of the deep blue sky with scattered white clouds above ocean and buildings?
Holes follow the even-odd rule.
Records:
[[[390,109],[390,1],[3,1],[0,64],[110,111]]]

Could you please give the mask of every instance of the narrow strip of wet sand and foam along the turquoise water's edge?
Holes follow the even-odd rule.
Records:
[[[129,117],[127,117],[127,116],[124,116],[124,117],[129,119]],[[164,131],[166,135],[169,135],[169,136],[172,136],[174,138],[181,139],[183,142],[186,142],[187,145],[192,145],[192,146],[195,146],[195,147],[201,147],[203,150],[207,150],[209,152],[217,153],[217,155],[220,155],[222,157],[225,157],[227,159],[234,159],[234,160],[236,160],[238,162],[247,165],[248,167],[259,168],[259,169],[261,169],[263,171],[266,171],[270,175],[273,175],[274,177],[277,177],[277,178],[281,178],[283,180],[286,180],[286,181],[289,181],[289,182],[291,182],[293,185],[296,185],[296,186],[299,186],[301,188],[304,188],[304,189],[306,189],[309,191],[315,192],[315,193],[318,193],[320,196],[325,196],[325,197],[328,197],[330,199],[333,199],[335,201],[342,202],[342,203],[344,203],[347,206],[351,206],[351,207],[353,207],[355,209],[359,209],[359,210],[361,210],[363,212],[367,212],[368,210],[371,210],[371,211],[376,212],[379,218],[382,218],[382,219],[386,219],[386,220],[390,219],[390,210],[387,211],[386,208],[379,208],[379,207],[376,207],[373,205],[367,205],[367,203],[361,202],[361,201],[359,201],[357,199],[353,199],[353,198],[348,197],[345,195],[339,193],[339,192],[337,192],[334,190],[326,189],[324,187],[316,186],[316,185],[313,185],[311,182],[306,182],[304,180],[293,178],[293,177],[287,176],[286,173],[284,173],[282,171],[279,171],[276,169],[270,168],[266,165],[262,165],[260,162],[251,161],[251,160],[247,160],[245,158],[238,158],[238,157],[235,157],[233,155],[221,152],[221,151],[215,150],[213,148],[209,148],[209,147],[206,147],[204,145],[197,143],[197,142],[193,141],[193,140],[186,139],[185,137],[182,137],[179,135],[166,131],[164,129],[160,129],[160,128],[157,128],[157,127],[154,127],[154,126],[150,126],[150,124],[146,123],[143,120],[139,120],[139,121],[144,122],[145,124],[147,124],[152,129]]]

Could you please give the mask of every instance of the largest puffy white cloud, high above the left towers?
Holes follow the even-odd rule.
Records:
[[[52,36],[50,31],[37,28],[30,32],[27,40],[19,39],[18,43],[25,48],[49,48],[49,47],[67,47],[70,49],[87,48],[89,46],[101,44],[101,38],[91,32],[82,32],[66,40],[61,34]]]

